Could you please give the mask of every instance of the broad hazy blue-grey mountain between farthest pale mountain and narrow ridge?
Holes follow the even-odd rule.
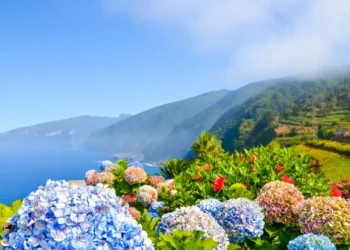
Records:
[[[146,154],[155,152],[164,145],[164,138],[176,126],[206,110],[229,93],[229,90],[211,91],[152,108],[94,132],[84,147],[114,154],[143,153],[149,160]]]

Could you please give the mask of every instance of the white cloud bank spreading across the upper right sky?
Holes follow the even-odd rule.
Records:
[[[201,49],[226,51],[232,64],[221,77],[236,84],[333,64],[337,48],[344,44],[348,46],[344,53],[350,52],[346,45],[350,43],[349,0],[103,3],[106,9],[126,12],[137,20],[183,28]]]

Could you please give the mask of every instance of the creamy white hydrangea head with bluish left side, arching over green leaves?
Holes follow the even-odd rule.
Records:
[[[229,242],[225,230],[209,214],[198,207],[181,207],[164,214],[158,222],[157,233],[171,234],[176,229],[183,231],[202,231],[203,238],[211,238],[219,244],[216,250],[227,249]]]

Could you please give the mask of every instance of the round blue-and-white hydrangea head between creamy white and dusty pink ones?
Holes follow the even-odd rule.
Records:
[[[261,208],[246,198],[225,201],[219,223],[232,243],[241,243],[246,238],[260,237],[264,233],[264,214]]]

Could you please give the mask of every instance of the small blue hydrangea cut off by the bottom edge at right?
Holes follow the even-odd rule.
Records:
[[[288,250],[336,250],[327,236],[303,234],[290,241]]]

